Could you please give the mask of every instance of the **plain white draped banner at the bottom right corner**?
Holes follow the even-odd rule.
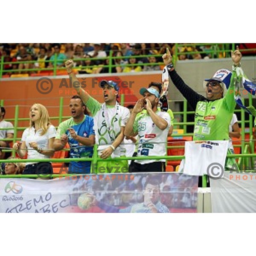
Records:
[[[210,185],[212,212],[256,212],[256,173],[224,172]]]

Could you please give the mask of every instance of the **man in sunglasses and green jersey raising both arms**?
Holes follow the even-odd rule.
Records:
[[[240,65],[241,53],[237,48],[232,52],[233,73],[230,87],[225,96],[224,84],[218,77],[205,79],[206,97],[196,93],[185,84],[175,71],[172,64],[172,56],[169,51],[163,55],[163,61],[167,66],[169,76],[177,89],[195,110],[195,128],[193,140],[229,140],[229,125],[236,107],[234,79],[236,67]],[[224,70],[222,70],[224,71]]]

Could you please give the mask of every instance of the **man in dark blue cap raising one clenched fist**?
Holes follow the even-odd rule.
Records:
[[[99,157],[107,159],[125,156],[125,145],[122,142],[130,111],[116,101],[119,87],[113,81],[102,80],[100,86],[103,90],[104,103],[101,104],[81,88],[81,84],[72,71],[73,65],[72,60],[65,62],[72,84],[79,84],[74,88],[93,115]],[[93,170],[96,171],[95,166]],[[128,161],[98,161],[97,173],[106,172],[128,172]]]

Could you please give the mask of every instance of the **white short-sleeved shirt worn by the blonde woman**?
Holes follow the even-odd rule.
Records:
[[[42,129],[39,129],[38,131],[35,132],[35,128],[26,128],[26,130],[22,134],[22,139],[21,141],[25,141],[26,147],[29,149],[28,150],[28,159],[45,159],[49,158],[48,156],[44,154],[38,153],[38,151],[33,150],[30,146],[29,143],[35,142],[38,144],[38,147],[42,149],[48,149],[48,140],[50,138],[56,137],[56,129],[53,125],[50,125],[47,132],[44,135],[41,135]],[[35,162],[33,162],[35,163]],[[32,164],[32,163],[26,163],[26,165]]]

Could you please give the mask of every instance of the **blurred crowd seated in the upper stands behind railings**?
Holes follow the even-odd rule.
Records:
[[[3,72],[3,75],[12,75],[17,73],[33,74],[37,71],[27,69],[44,69],[53,68],[55,53],[57,55],[57,67],[64,67],[64,60],[77,59],[75,67],[81,74],[97,73],[121,73],[121,72],[140,72],[161,69],[161,55],[169,48],[172,54],[175,52],[173,43],[67,43],[67,44],[49,44],[49,43],[23,43],[23,44],[1,44],[0,57],[4,56],[4,62],[10,62],[3,65],[3,70],[20,70]],[[115,67],[105,67],[109,65],[108,57],[110,52],[113,57],[124,57],[113,59],[112,65]],[[209,51],[209,54],[207,54]],[[212,46],[189,46],[178,47],[177,52],[179,60],[213,58],[211,55]],[[192,52],[192,53],[190,53]],[[202,53],[204,52],[204,53]],[[182,54],[181,54],[182,53]],[[152,55],[148,57],[128,58],[128,56]],[[156,57],[154,55],[159,55]],[[125,58],[126,57],[126,58]],[[87,58],[87,60],[79,60]],[[106,59],[102,59],[106,58]],[[34,63],[20,63],[16,61],[37,61]],[[50,62],[47,62],[50,61]],[[14,64],[12,64],[14,62]],[[144,64],[152,65],[144,65]],[[128,64],[137,64],[129,66]],[[140,65],[138,65],[140,64]],[[24,71],[22,71],[24,69]]]

